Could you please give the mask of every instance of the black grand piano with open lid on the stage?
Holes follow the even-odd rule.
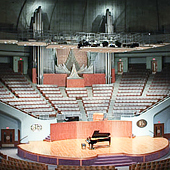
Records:
[[[86,142],[89,144],[90,149],[94,149],[93,145],[97,142],[109,141],[109,146],[110,146],[111,137],[109,136],[110,136],[110,133],[99,133],[99,130],[95,130],[93,132],[92,137],[88,137],[86,139]]]

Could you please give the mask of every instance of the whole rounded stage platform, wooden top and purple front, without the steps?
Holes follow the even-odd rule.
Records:
[[[165,138],[111,137],[108,142],[94,144],[90,150],[86,139],[67,139],[53,142],[30,141],[18,145],[18,155],[37,162],[57,165],[93,165],[100,156],[124,155],[133,162],[147,162],[159,159],[169,152],[169,141]],[[81,144],[86,148],[82,149]]]

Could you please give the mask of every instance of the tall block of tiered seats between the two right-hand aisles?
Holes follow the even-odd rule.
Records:
[[[142,97],[144,87],[147,83],[149,71],[142,68],[131,68],[129,72],[123,73],[116,100],[113,106],[113,116],[133,116],[153,104]]]

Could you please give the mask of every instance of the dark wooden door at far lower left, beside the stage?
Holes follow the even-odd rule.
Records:
[[[2,147],[14,147],[15,129],[1,129]]]

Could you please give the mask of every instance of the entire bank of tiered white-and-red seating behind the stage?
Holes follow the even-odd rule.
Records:
[[[36,88],[24,75],[5,69],[0,72],[0,100],[37,118],[57,116],[64,120],[79,116],[81,119],[85,112],[87,119],[93,120],[93,113],[104,113],[107,117],[110,110],[112,117],[135,116],[170,94],[170,78],[169,70],[150,76],[151,71],[144,66],[133,67],[123,73],[117,91],[114,91],[115,84],[93,84],[90,89],[93,97],[88,96],[87,88],[65,88],[67,98],[57,85],[37,85]],[[113,91],[116,97],[111,107]],[[77,100],[82,100],[83,113]]]

